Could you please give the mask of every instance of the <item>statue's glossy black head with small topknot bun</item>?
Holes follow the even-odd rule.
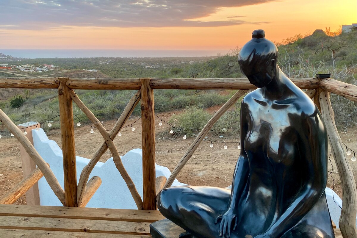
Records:
[[[265,39],[263,30],[255,30],[252,39],[241,49],[238,62],[242,73],[258,88],[268,85],[276,75],[278,49]]]

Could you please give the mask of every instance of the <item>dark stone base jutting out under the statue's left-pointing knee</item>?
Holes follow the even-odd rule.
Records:
[[[153,238],[178,238],[182,232],[185,232],[185,230],[169,219],[150,224],[150,234]]]

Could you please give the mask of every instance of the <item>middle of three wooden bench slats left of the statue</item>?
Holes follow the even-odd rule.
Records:
[[[148,222],[0,216],[2,229],[149,235],[149,225]]]

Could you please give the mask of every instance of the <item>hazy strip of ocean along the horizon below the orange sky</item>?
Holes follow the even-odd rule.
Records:
[[[0,49],[0,53],[17,58],[82,58],[82,57],[196,57],[217,56],[229,50],[42,50]]]

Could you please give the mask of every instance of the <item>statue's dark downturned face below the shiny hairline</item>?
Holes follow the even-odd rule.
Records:
[[[240,62],[242,73],[247,76],[249,82],[258,88],[267,86],[275,75],[275,60],[271,59],[267,62]]]

